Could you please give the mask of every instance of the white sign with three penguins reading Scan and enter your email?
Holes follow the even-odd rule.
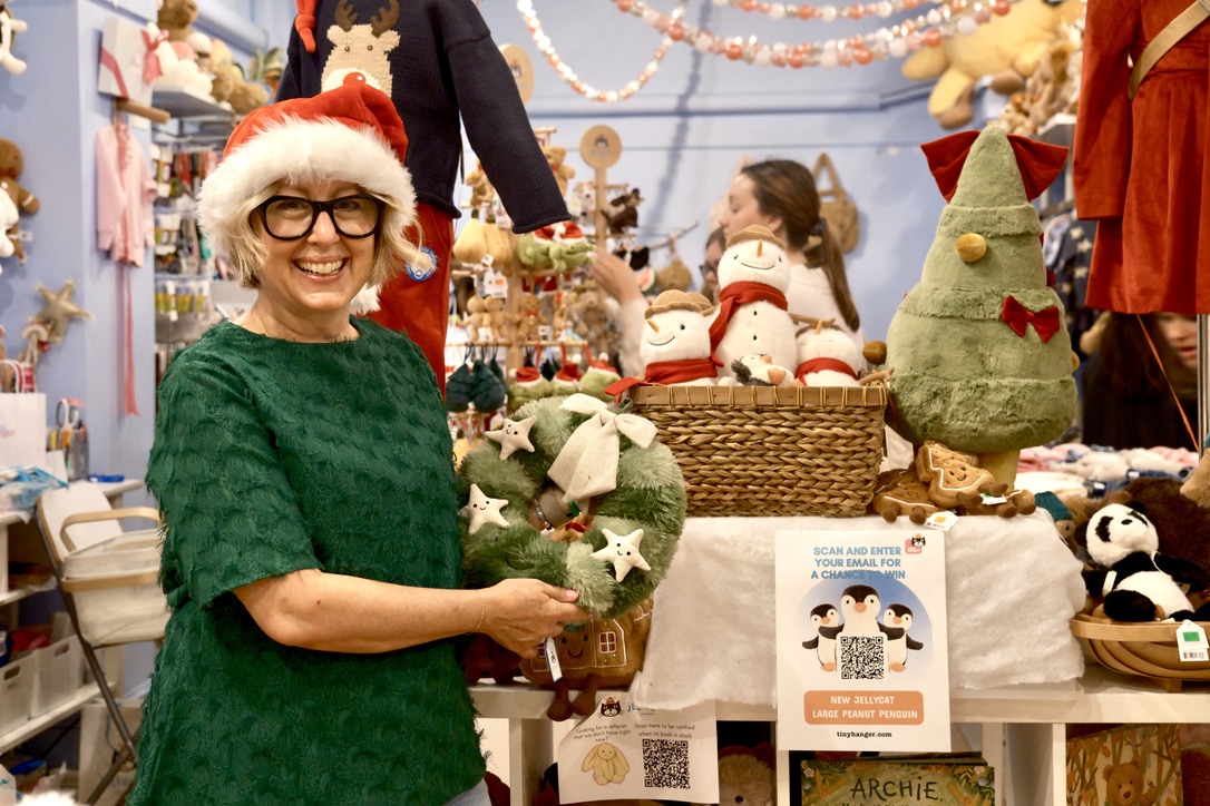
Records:
[[[778,748],[950,749],[944,538],[774,535]]]

